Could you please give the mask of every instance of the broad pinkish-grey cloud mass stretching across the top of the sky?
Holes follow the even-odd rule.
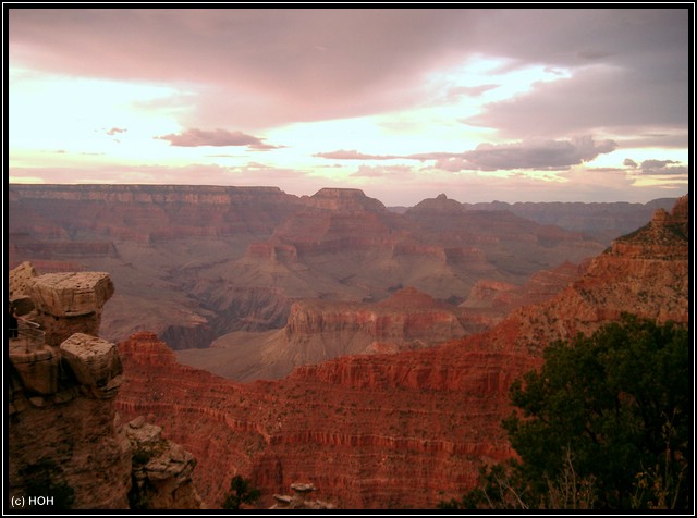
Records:
[[[539,85],[479,116],[480,124],[500,125],[504,136],[522,138],[586,133],[614,116],[621,123],[684,124],[689,13],[687,8],[16,9],[8,14],[8,51],[10,62],[25,67],[187,85],[196,102],[181,116],[187,126],[205,127],[260,128],[412,107],[426,75],[473,55],[505,59],[512,67],[572,70],[571,81]],[[123,27],[127,38],[121,37]],[[599,72],[601,65],[620,72]],[[468,95],[485,88],[453,87]]]

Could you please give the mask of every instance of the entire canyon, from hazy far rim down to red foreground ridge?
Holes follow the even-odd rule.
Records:
[[[689,320],[687,196],[603,243],[444,195],[399,213],[356,189],[44,187],[12,186],[11,261],[33,242],[112,245],[34,249],[56,272],[109,271],[120,419],[191,452],[209,508],[235,474],[260,508],[298,482],[337,508],[435,508],[515,455],[508,387],[550,341],[623,311]],[[237,363],[257,357],[234,377],[255,381],[180,361],[240,347]]]

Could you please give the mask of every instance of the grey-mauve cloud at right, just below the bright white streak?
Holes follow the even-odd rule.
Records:
[[[629,127],[637,133],[645,127],[684,130],[689,84],[680,74],[665,73],[670,76],[607,64],[586,66],[571,77],[538,83],[527,94],[487,104],[463,122],[496,128],[509,138],[600,130],[626,133]]]

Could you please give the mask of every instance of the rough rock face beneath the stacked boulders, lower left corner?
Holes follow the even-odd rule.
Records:
[[[54,496],[53,509],[127,509],[132,451],[113,404],[64,379],[41,395],[14,378],[11,387],[10,495]]]

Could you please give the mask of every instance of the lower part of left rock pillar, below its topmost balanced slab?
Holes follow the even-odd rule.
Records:
[[[53,496],[57,508],[125,509],[132,453],[113,405],[121,363],[113,344],[73,337],[60,351],[10,343],[10,495],[27,507]]]

